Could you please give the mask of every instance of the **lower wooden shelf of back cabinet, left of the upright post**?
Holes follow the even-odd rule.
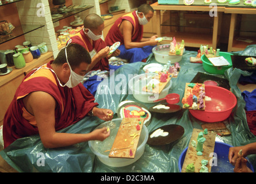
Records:
[[[195,33],[184,33],[184,32],[171,32],[162,36],[175,37],[176,41],[181,43],[182,40],[185,41],[185,47],[197,47],[200,45],[208,45],[212,47],[212,34],[195,34]],[[169,40],[161,41],[161,44],[170,44]]]

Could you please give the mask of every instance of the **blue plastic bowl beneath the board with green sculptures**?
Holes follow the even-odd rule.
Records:
[[[217,154],[217,166],[212,166],[211,173],[234,173],[235,166],[232,166],[228,160],[228,152],[230,151],[230,147],[232,147],[232,145],[221,143],[219,141],[215,142],[214,152]],[[186,147],[179,156],[179,172],[181,172],[187,150],[188,147]],[[247,162],[247,166],[251,169],[251,171],[254,172],[253,165],[249,162],[249,160]]]

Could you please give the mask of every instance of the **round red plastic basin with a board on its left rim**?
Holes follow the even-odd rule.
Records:
[[[223,87],[205,86],[205,95],[211,97],[211,101],[205,101],[205,110],[189,109],[192,116],[198,120],[205,122],[224,121],[236,106],[235,95]]]

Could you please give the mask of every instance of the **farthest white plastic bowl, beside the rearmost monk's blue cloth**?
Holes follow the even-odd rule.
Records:
[[[180,62],[182,56],[173,56],[169,55],[170,52],[170,44],[158,45],[152,48],[152,52],[155,55],[156,62],[159,63],[167,63],[170,61],[171,63]]]

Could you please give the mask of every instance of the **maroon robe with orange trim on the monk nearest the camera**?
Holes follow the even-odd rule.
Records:
[[[43,67],[51,67],[51,62]],[[32,75],[33,74],[33,75]],[[54,72],[49,69],[33,70],[25,76],[18,87],[3,119],[4,147],[12,144],[16,139],[37,135],[39,133],[35,117],[25,110],[22,98],[35,91],[44,91],[52,95],[56,101],[55,129],[66,128],[81,120],[86,114],[97,106],[93,95],[79,83],[78,86],[69,88],[59,85]],[[28,116],[30,116],[28,118]]]

